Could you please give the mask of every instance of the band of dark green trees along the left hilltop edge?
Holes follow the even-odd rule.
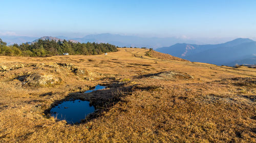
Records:
[[[117,46],[105,43],[73,43],[70,41],[38,40],[33,43],[7,46],[0,38],[0,55],[45,57],[69,53],[71,55],[92,55],[117,51]]]

